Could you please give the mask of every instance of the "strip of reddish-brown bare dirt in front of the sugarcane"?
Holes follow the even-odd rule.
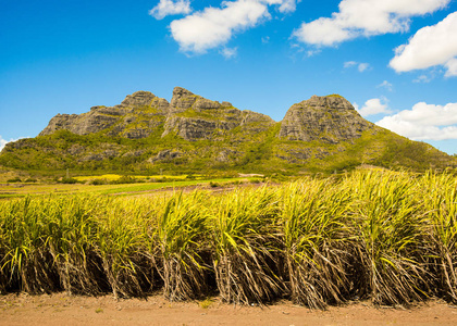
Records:
[[[432,301],[404,310],[369,302],[313,311],[282,301],[269,306],[235,306],[219,299],[169,302],[69,297],[65,293],[0,296],[0,325],[457,325],[457,306]]]

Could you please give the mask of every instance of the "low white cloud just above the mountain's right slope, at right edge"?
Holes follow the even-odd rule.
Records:
[[[376,125],[413,140],[457,139],[457,103],[417,103],[411,110],[385,116]]]

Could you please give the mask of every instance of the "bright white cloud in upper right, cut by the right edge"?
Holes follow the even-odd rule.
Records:
[[[457,76],[457,12],[433,26],[419,29],[407,45],[395,50],[391,67],[396,72],[444,65],[446,76]]]

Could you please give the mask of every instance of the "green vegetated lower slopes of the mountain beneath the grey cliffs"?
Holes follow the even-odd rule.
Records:
[[[21,139],[8,145],[0,165],[37,172],[78,174],[129,173],[221,174],[334,173],[351,171],[360,164],[386,168],[425,171],[456,165],[456,159],[433,147],[408,140],[388,130],[365,131],[358,139],[339,143],[289,141],[276,137],[276,124],[262,133],[237,127],[221,131],[213,140],[187,141],[169,134],[141,139],[108,137],[102,133],[74,135],[59,130],[52,135]]]

